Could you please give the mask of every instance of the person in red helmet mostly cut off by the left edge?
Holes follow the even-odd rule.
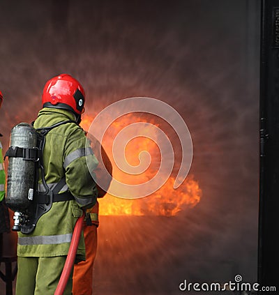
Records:
[[[0,109],[3,103],[3,95],[0,91]],[[0,137],[2,135],[0,134]],[[10,218],[8,207],[5,203],[5,169],[3,163],[2,145],[0,141],[0,255],[3,249],[3,233],[10,232]]]

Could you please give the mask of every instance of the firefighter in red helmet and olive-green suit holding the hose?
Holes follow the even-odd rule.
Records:
[[[34,128],[53,126],[61,121],[76,121],[58,126],[45,137],[43,163],[45,181],[55,190],[50,211],[43,214],[31,234],[18,233],[17,295],[53,295],[68,254],[70,239],[77,218],[83,210],[96,204],[98,189],[89,172],[98,165],[84,131],[78,124],[84,112],[84,89],[72,76],[53,77],[43,89],[43,109]],[[61,186],[61,179],[64,185]],[[65,199],[63,197],[65,196]],[[80,239],[76,261],[85,259],[84,236]],[[73,271],[63,294],[72,294]]]

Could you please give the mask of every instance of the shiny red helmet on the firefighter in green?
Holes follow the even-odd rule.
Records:
[[[70,75],[61,74],[45,84],[43,107],[68,109],[77,115],[84,112],[85,92],[80,82]]]

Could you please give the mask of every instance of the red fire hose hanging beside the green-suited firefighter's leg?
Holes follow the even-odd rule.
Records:
[[[77,222],[75,223],[73,237],[72,237],[72,240],[70,241],[68,256],[66,258],[66,262],[65,262],[63,271],[61,273],[61,277],[56,287],[54,295],[63,295],[63,292],[66,288],[68,279],[70,277],[70,272],[72,271],[72,267],[75,262],[75,254],[77,252],[77,246],[80,242],[80,234],[82,232],[83,220],[84,220],[84,213],[82,217],[78,218]]]

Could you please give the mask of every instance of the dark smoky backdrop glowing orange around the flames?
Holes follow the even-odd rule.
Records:
[[[82,82],[89,114],[157,98],[192,135],[201,202],[172,218],[101,216],[95,294],[182,294],[184,279],[236,274],[255,282],[259,1],[1,1],[0,13],[4,151],[59,73]]]

